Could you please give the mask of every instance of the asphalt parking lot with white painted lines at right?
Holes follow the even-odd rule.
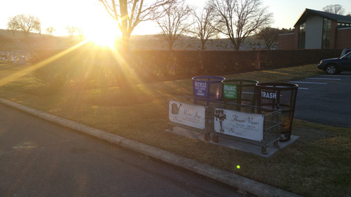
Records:
[[[289,83],[299,86],[294,118],[351,128],[351,72],[322,74]]]

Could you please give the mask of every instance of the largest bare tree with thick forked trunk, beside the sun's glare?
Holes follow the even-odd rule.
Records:
[[[125,50],[129,50],[129,39],[134,28],[143,21],[156,20],[164,15],[163,6],[176,0],[99,0],[107,13],[117,21],[122,33]]]

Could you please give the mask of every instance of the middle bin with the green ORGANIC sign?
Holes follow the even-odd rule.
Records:
[[[256,83],[249,79],[225,79],[223,83],[224,102],[236,104],[256,105]]]

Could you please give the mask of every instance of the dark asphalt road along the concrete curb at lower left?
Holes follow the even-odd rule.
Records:
[[[0,104],[0,196],[241,196]]]

